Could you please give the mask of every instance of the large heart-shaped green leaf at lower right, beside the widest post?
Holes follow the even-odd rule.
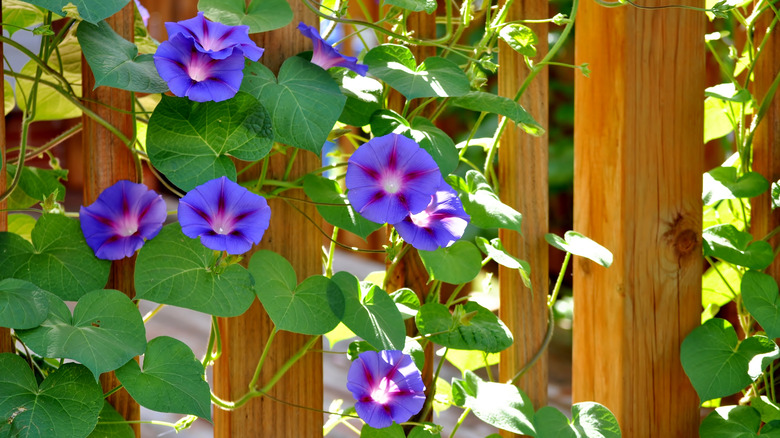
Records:
[[[680,362],[701,401],[734,394],[757,378],[765,355],[777,351],[774,342],[765,341],[769,340],[754,336],[738,343],[734,327],[720,318],[688,334],[680,347]],[[757,365],[751,364],[755,358]]]

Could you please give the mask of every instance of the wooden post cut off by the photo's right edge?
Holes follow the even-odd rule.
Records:
[[[754,5],[757,5],[757,3],[755,2]],[[756,33],[754,35],[756,44],[760,44],[766,36],[766,30],[772,21],[770,15],[771,11],[765,12],[756,24]],[[778,51],[780,51],[780,32],[775,28],[769,35],[769,40],[761,51],[754,70],[755,88],[753,89],[753,95],[756,96],[759,103],[764,99],[772,81],[774,81],[775,76],[780,71],[780,53]],[[753,138],[753,170],[764,175],[769,182],[775,182],[780,179],[780,150],[778,150],[778,142],[780,142],[780,98],[775,94],[764,116],[764,120],[758,125]],[[750,226],[756,239],[762,239],[767,233],[780,226],[780,210],[772,210],[772,200],[769,192],[753,198],[751,202]],[[773,247],[777,247],[780,240],[775,236],[769,242]],[[775,259],[766,273],[776,279],[780,279],[780,262]]]

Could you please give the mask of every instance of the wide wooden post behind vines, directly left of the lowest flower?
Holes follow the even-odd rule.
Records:
[[[273,71],[278,71],[286,58],[311,49],[310,41],[301,36],[296,26],[299,21],[316,26],[317,19],[302,2],[290,2],[290,6],[295,14],[291,24],[272,32],[253,35],[258,46],[265,48],[260,61]],[[292,153],[293,150],[289,149],[286,155],[273,157],[267,178],[281,179]],[[321,165],[320,157],[298,151],[290,176],[301,176]],[[259,176],[250,175],[251,172],[247,171],[244,177],[251,179]],[[303,197],[303,194],[292,193],[289,196]],[[321,274],[322,239],[317,229],[282,200],[270,200],[269,205],[271,225],[258,248],[269,249],[286,257],[300,281],[310,275]],[[297,202],[295,207],[317,220],[317,211],[312,204]],[[271,320],[257,301],[239,317],[220,319],[222,356],[214,364],[214,390],[217,395],[235,400],[246,393],[272,327]],[[267,382],[309,339],[309,336],[288,332],[277,334],[263,365],[260,384]],[[273,387],[270,395],[291,404],[322,409],[322,393],[322,355],[308,353]],[[315,437],[322,436],[322,425],[321,413],[282,404],[268,397],[254,399],[236,411],[216,409],[214,412],[214,436],[217,438]]]

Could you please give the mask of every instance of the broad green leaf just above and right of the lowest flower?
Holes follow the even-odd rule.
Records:
[[[512,333],[490,310],[469,301],[452,314],[444,304],[426,303],[415,317],[417,329],[449,348],[498,353],[512,345]]]

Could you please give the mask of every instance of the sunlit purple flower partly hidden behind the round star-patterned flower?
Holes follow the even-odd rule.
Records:
[[[435,251],[463,236],[471,217],[463,210],[457,192],[441,181],[428,207],[393,224],[398,234],[417,249]]]

